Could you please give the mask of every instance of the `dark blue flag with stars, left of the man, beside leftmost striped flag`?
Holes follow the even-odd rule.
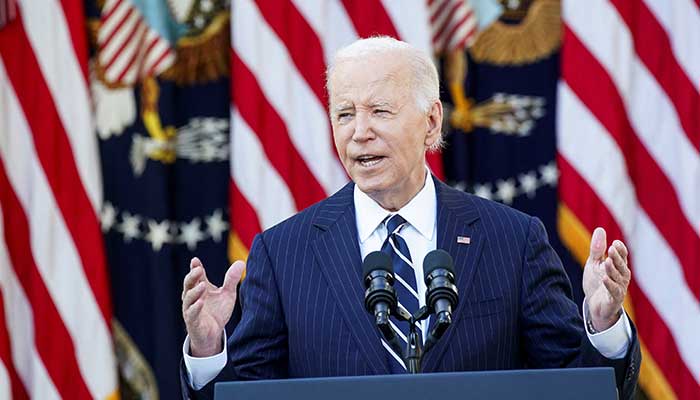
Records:
[[[121,395],[176,399],[182,278],[228,266],[229,6],[86,4]]]

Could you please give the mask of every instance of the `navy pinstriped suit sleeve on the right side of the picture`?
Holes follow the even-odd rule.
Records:
[[[529,367],[613,367],[620,398],[633,397],[641,362],[634,325],[625,358],[608,359],[593,347],[572,300],[571,283],[537,218],[530,219],[523,249],[520,295],[521,340]]]

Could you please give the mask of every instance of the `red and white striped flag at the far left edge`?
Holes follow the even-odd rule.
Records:
[[[0,28],[0,398],[113,399],[82,0]]]

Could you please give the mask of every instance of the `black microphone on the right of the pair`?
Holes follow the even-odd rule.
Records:
[[[459,299],[452,257],[445,250],[433,250],[423,260],[423,271],[426,305],[436,317],[430,335],[437,340],[452,323],[452,309]]]

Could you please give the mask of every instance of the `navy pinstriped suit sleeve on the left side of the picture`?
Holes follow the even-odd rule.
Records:
[[[229,327],[233,330],[228,338],[226,367],[213,381],[195,391],[187,385],[187,373],[181,363],[183,395],[187,393],[192,399],[213,399],[217,382],[288,376],[287,326],[262,235],[253,241]]]

